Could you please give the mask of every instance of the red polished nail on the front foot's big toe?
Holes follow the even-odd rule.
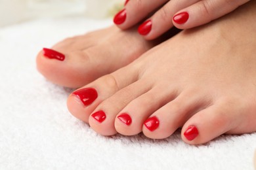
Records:
[[[98,97],[98,93],[94,88],[82,88],[73,92],[73,94],[76,95],[85,106],[91,105]]]

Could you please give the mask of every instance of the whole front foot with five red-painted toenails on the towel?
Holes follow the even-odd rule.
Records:
[[[188,144],[256,131],[256,2],[182,31],[68,97],[68,109],[101,135]],[[246,26],[245,26],[246,25]]]

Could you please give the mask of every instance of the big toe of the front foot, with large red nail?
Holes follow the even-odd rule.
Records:
[[[133,70],[135,70],[135,68],[133,68]],[[124,77],[122,75],[124,73],[129,74]],[[76,118],[88,123],[89,115],[104,99],[107,99],[121,88],[137,80],[137,77],[132,75],[133,71],[128,70],[127,67],[123,67],[110,75],[98,78],[79,90],[75,90],[75,92],[68,97],[68,110],[70,110]]]

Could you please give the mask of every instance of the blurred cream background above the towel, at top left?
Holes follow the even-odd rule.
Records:
[[[40,18],[104,19],[116,14],[124,3],[124,0],[0,0],[0,27]]]

